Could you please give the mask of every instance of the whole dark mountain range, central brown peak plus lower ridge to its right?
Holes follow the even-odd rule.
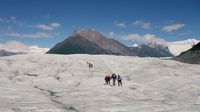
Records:
[[[112,54],[141,57],[171,57],[167,46],[145,44],[127,47],[122,43],[104,37],[92,29],[76,31],[72,36],[56,44],[49,54]]]

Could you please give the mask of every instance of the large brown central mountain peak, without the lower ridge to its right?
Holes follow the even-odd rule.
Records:
[[[49,54],[115,54],[131,55],[128,47],[100,33],[86,29],[75,32],[71,37],[56,44]]]

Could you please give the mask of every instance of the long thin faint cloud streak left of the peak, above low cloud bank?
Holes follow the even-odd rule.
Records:
[[[21,38],[51,38],[53,37],[51,34],[45,33],[45,32],[36,32],[32,34],[9,32],[6,35],[13,36],[13,37],[21,37]]]

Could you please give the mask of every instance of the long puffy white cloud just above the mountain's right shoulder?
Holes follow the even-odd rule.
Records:
[[[146,43],[164,43],[165,40],[156,37],[153,34],[145,34],[145,35],[140,35],[140,34],[129,34],[125,35],[122,37],[123,40],[131,40],[131,41],[141,41],[141,42],[146,42]]]

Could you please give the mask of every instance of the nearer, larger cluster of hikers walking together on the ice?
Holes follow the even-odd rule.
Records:
[[[111,76],[106,75],[105,78],[104,78],[105,83],[110,85],[110,80],[111,79],[113,81],[113,83],[112,83],[113,86],[115,86],[116,80],[118,82],[118,86],[122,86],[122,77],[120,75],[116,75],[114,73]]]

